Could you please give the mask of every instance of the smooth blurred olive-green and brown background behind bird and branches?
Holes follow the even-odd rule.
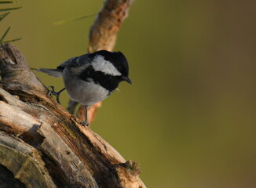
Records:
[[[15,45],[31,67],[57,67],[86,52],[95,16],[53,23],[97,13],[103,1],[18,4],[0,32],[11,25],[6,39],[25,37]],[[133,3],[115,46],[133,85],[104,101],[91,128],[141,164],[148,187],[256,187],[255,24],[256,1]]]

